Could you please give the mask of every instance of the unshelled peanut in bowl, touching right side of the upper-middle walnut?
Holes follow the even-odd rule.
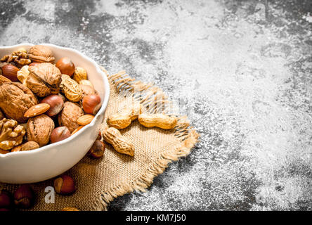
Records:
[[[77,102],[82,99],[82,89],[79,84],[68,75],[62,75],[60,89],[70,101]]]

